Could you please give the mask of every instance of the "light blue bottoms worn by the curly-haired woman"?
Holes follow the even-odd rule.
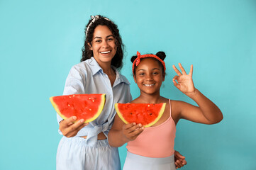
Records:
[[[57,149],[57,170],[121,170],[118,148],[108,140],[98,140],[97,147],[88,147],[82,137],[62,137]]]

